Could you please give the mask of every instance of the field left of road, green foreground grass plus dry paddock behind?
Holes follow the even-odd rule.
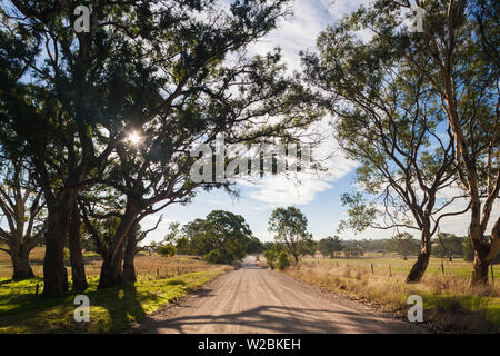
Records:
[[[7,257],[7,258],[6,258]],[[41,276],[43,249],[31,255],[33,270]],[[100,333],[122,330],[147,315],[162,308],[231,270],[229,266],[208,265],[192,256],[163,258],[138,256],[138,281],[97,290],[101,260],[93,254],[84,257],[90,299],[90,322],[73,318],[74,295],[46,300],[36,296],[41,277],[23,281],[10,279],[11,266],[6,254],[0,256],[0,333]],[[70,273],[71,268],[68,268]],[[71,280],[70,280],[71,281]],[[70,283],[71,287],[71,283]]]

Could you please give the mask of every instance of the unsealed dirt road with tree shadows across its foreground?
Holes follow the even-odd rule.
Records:
[[[141,333],[423,333],[338,295],[324,295],[246,261],[179,305],[147,318]]]

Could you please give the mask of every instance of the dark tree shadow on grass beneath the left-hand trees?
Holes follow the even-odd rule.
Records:
[[[87,291],[79,293],[89,297],[91,323],[77,323],[73,318],[77,294],[50,299],[36,297],[37,283],[39,280],[33,279],[31,284],[19,286],[12,280],[1,281],[10,293],[0,294],[0,328],[19,326],[28,333],[114,332],[146,316],[141,300],[156,299],[152,294],[139,295],[131,284],[97,290],[97,280],[92,280]],[[50,324],[44,322],[46,315],[50,315]]]

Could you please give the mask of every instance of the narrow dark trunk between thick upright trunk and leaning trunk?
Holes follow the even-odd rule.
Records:
[[[74,208],[71,215],[71,226],[69,230],[69,249],[71,259],[71,276],[73,280],[73,291],[83,291],[89,285],[87,284],[86,266],[83,256],[81,254],[80,245],[80,211],[78,205],[74,204]]]

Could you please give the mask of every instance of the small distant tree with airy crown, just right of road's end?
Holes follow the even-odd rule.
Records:
[[[308,233],[308,219],[296,207],[276,208],[269,218],[269,231],[276,233],[274,239],[287,246],[296,264],[316,250],[312,235]]]

